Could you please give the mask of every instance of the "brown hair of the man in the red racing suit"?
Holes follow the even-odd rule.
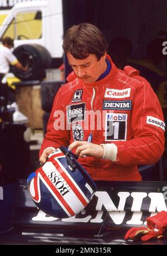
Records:
[[[85,59],[90,54],[95,54],[97,60],[100,60],[107,51],[107,43],[99,28],[89,23],[81,23],[67,30],[63,51],[70,52],[75,59]]]

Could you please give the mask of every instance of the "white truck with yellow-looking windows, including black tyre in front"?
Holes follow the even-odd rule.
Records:
[[[15,4],[0,27],[0,40],[6,36],[14,39],[14,55],[29,68],[12,68],[12,73],[21,80],[42,80],[46,69],[62,63],[62,0]]]

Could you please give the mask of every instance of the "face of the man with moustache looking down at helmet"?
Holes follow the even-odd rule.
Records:
[[[96,81],[102,75],[106,68],[106,54],[97,60],[95,54],[90,54],[85,59],[77,60],[70,52],[67,52],[68,63],[75,72],[77,78],[84,81],[85,84],[90,84]]]

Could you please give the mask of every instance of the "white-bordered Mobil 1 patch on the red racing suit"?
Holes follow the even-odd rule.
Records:
[[[106,113],[105,141],[126,141],[127,114]]]

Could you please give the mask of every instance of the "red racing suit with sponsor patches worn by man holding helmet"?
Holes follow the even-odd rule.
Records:
[[[74,60],[75,70],[80,60]],[[92,83],[85,83],[89,76],[79,78],[77,71],[68,76],[55,97],[40,159],[48,149],[70,145],[94,180],[141,181],[137,165],[157,162],[164,151],[163,113],[137,70],[117,69],[109,55],[106,60],[111,70]],[[88,152],[84,147],[92,147],[92,153],[80,154],[82,148]]]

